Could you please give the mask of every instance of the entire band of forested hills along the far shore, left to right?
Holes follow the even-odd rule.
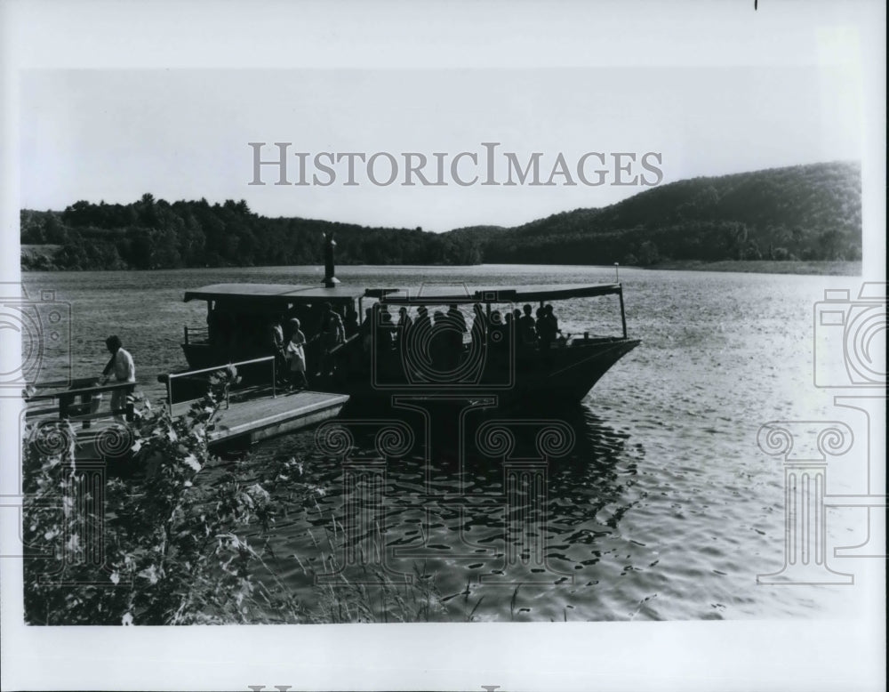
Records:
[[[694,178],[515,228],[441,234],[272,219],[244,201],[169,203],[150,194],[129,205],[80,201],[63,212],[21,212],[22,268],[319,264],[321,233],[331,230],[340,264],[857,260],[861,168],[829,163]]]

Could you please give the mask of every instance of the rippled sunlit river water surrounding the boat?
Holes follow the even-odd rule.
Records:
[[[342,267],[338,275],[359,288],[614,277],[608,268],[537,266]],[[156,375],[185,366],[182,326],[204,322],[203,303],[183,303],[184,290],[233,281],[314,285],[320,278],[316,268],[258,268],[28,273],[25,283],[32,295],[53,289],[57,301],[70,303],[74,376],[100,372],[104,338],[116,333],[135,358],[141,389],[159,401]],[[469,445],[461,459],[456,424],[436,421],[431,470],[422,463],[421,440],[382,469],[370,464],[384,495],[371,523],[382,532],[390,575],[434,574],[445,597],[437,617],[455,621],[470,612],[501,621],[848,613],[858,605],[853,588],[757,585],[757,574],[781,568],[784,550],[781,460],[759,450],[757,430],[776,419],[836,417],[829,396],[812,384],[813,303],[825,288],[854,291],[860,280],[621,270],[621,281],[629,335],[642,344],[582,406],[548,412],[575,439],[543,471],[543,520],[529,525],[527,514],[505,501],[502,455]],[[561,309],[563,330],[599,325],[593,331],[601,332],[607,319],[608,330],[618,331],[620,313],[606,318],[592,304],[594,311],[583,303]],[[41,378],[63,374],[66,363],[55,354]],[[421,419],[405,413],[404,420]],[[356,435],[358,447],[372,447]],[[534,456],[532,443],[518,444],[513,457]],[[278,520],[267,559],[310,602],[316,587],[304,567],[323,572],[321,551],[342,537],[350,471],[318,450],[313,430],[255,447],[250,463],[260,468],[276,457],[298,458],[299,482],[313,490],[308,502],[293,495],[300,499]],[[861,539],[859,515],[835,511],[828,519],[830,554],[833,545]],[[529,526],[534,535],[525,535]],[[542,546],[543,567],[509,563],[510,543],[523,541],[532,550]]]

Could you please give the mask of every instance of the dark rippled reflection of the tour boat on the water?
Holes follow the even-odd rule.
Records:
[[[484,595],[476,619],[608,618],[570,594],[595,586],[597,563],[621,543],[642,448],[582,406],[524,419],[474,402],[409,406],[347,411],[317,430],[310,482],[324,495],[288,512],[272,551],[310,554],[333,537],[351,583],[410,581],[421,564],[445,603]],[[256,461],[290,451],[281,440]],[[296,559],[276,567],[310,599]],[[517,610],[520,585],[534,602]],[[540,598],[556,587],[557,603]]]

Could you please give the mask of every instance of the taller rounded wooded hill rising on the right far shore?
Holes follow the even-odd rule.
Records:
[[[693,178],[601,209],[463,232],[481,243],[485,262],[859,260],[861,166],[797,165]]]

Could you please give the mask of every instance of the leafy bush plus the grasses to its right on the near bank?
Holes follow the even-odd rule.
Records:
[[[258,535],[275,523],[276,490],[285,487],[292,495],[295,487],[305,498],[314,489],[294,482],[302,468],[294,459],[270,463],[260,479],[244,482],[209,454],[207,432],[235,376],[217,378],[180,418],[140,402],[136,422],[112,430],[116,437],[110,439],[132,453],[120,461],[129,467],[124,478],[105,479],[96,472],[101,464],[76,460],[68,422],[28,430],[28,624],[409,622],[444,616],[435,575],[425,569],[417,570],[411,586],[380,573],[377,586],[343,578],[316,587],[309,608],[281,582],[248,539],[259,544]],[[321,567],[336,573],[336,539],[326,540]]]

